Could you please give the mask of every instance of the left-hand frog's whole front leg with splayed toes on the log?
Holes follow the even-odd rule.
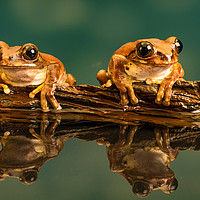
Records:
[[[62,109],[59,103],[57,102],[54,92],[57,86],[57,82],[59,79],[59,65],[58,64],[51,64],[48,66],[47,69],[47,77],[43,84],[38,86],[35,90],[33,90],[30,94],[30,98],[34,98],[35,95],[40,92],[40,102],[43,111],[49,111],[47,106],[47,100],[51,103],[54,109],[60,110]]]

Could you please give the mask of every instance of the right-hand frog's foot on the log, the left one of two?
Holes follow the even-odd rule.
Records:
[[[121,96],[121,104],[122,105],[127,105],[129,103],[128,96],[130,98],[131,104],[137,104],[138,103],[138,98],[135,96],[133,86],[129,82],[120,82],[120,83],[115,83],[116,87],[120,91],[120,96]],[[127,95],[128,94],[128,95]]]

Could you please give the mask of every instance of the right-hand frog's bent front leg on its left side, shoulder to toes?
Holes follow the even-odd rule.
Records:
[[[128,96],[130,97],[132,104],[138,103],[138,99],[133,90],[132,82],[128,81],[126,78],[124,65],[127,64],[127,62],[128,60],[124,56],[114,55],[109,63],[109,68],[112,69],[111,77],[120,91],[122,105],[127,105],[129,103]]]

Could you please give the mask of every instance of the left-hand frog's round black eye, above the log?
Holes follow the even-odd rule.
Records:
[[[35,60],[38,55],[38,48],[33,44],[27,44],[22,49],[22,56],[25,60]]]

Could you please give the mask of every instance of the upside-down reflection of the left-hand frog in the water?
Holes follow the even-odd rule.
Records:
[[[42,120],[40,134],[30,129],[29,136],[5,132],[0,137],[0,180],[15,177],[26,185],[34,183],[42,165],[56,157],[67,140],[66,136],[54,136],[59,123],[59,120],[50,124],[48,120]]]

